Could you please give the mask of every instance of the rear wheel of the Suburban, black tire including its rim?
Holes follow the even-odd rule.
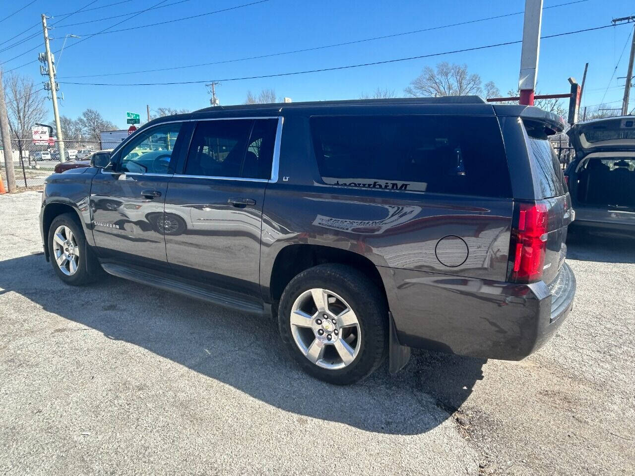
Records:
[[[323,290],[328,314],[316,305],[324,303]],[[291,357],[310,375],[335,385],[366,378],[382,363],[388,347],[388,309],[382,294],[346,265],[318,265],[298,274],[284,288],[278,310],[280,334]],[[337,317],[337,324],[324,315]],[[353,317],[356,324],[351,324]],[[329,335],[331,340],[325,340]]]

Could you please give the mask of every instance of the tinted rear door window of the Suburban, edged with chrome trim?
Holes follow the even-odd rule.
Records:
[[[185,175],[271,178],[277,119],[219,119],[196,126]]]

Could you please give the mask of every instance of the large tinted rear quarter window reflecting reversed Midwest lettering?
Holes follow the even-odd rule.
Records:
[[[324,183],[511,197],[495,117],[312,117]]]

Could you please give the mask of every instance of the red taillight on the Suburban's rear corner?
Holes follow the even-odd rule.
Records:
[[[512,281],[534,282],[542,278],[548,221],[544,203],[519,204],[518,225],[511,234]]]

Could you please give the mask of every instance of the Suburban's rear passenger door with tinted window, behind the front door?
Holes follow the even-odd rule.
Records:
[[[196,124],[165,202],[167,259],[177,274],[260,295],[262,206],[279,121]]]

